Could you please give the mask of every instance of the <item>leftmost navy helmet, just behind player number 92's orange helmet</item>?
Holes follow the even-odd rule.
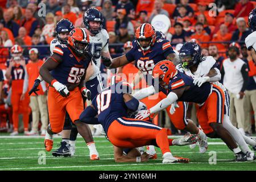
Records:
[[[61,19],[55,27],[55,35],[57,40],[59,40],[59,42],[61,44],[67,44],[68,43],[68,38],[60,38],[59,34],[60,33],[68,33],[71,32],[71,30],[73,30],[75,27],[73,25],[73,23],[71,21],[69,21],[68,19]]]

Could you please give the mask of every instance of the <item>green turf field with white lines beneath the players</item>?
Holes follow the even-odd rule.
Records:
[[[45,151],[43,137],[7,138],[0,135],[0,170],[256,170],[255,160],[254,162],[233,162],[233,152],[220,139],[209,139],[209,148],[205,154],[199,154],[198,147],[191,150],[189,146],[171,146],[172,154],[189,158],[191,160],[189,164],[162,164],[162,154],[159,148],[156,148],[158,159],[145,163],[115,163],[113,147],[110,142],[102,137],[94,137],[94,139],[100,160],[90,161],[89,150],[82,138],[79,137],[76,143],[76,156],[55,158],[51,152],[46,152],[46,164],[39,164],[38,161],[44,161],[39,158],[39,155],[44,154]],[[61,138],[55,138],[53,150],[57,148],[60,140]],[[209,164],[209,158],[212,156],[209,155],[210,151],[216,152],[216,164]]]

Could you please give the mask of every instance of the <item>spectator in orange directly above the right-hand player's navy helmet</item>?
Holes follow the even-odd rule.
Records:
[[[204,24],[197,22],[195,27],[196,27],[196,32],[195,34],[191,35],[191,39],[196,39],[199,42],[209,42],[210,36],[204,30]],[[208,44],[207,43],[201,44],[201,47],[202,48],[208,47]]]

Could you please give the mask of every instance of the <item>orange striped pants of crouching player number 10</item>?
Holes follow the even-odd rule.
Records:
[[[117,118],[109,126],[110,142],[120,148],[135,148],[150,145],[156,141],[162,153],[170,152],[172,139],[168,139],[167,130],[151,122],[131,118]]]

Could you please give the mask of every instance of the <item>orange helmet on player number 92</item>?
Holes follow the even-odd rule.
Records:
[[[89,45],[89,35],[84,28],[74,28],[68,36],[68,44],[79,55],[82,55]]]

